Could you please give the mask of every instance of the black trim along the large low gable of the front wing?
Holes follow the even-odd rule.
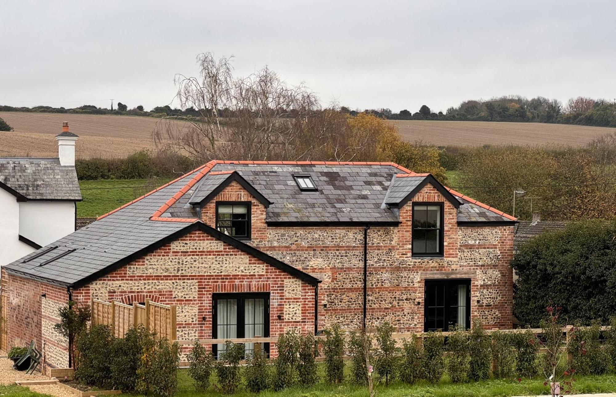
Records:
[[[152,221],[152,222],[155,222],[155,221]],[[86,285],[87,283],[94,281],[96,279],[99,279],[100,277],[105,276],[105,274],[108,274],[116,269],[119,269],[122,266],[129,264],[134,260],[142,258],[148,253],[153,252],[157,248],[163,247],[163,245],[169,244],[172,241],[177,240],[180,237],[190,232],[197,231],[197,230],[205,232],[206,234],[211,235],[215,239],[221,240],[222,242],[232,245],[233,247],[238,248],[238,250],[245,252],[248,255],[252,255],[255,258],[262,260],[265,263],[270,264],[274,266],[275,268],[278,268],[288,274],[291,274],[291,276],[297,277],[298,279],[303,280],[310,285],[317,285],[318,283],[320,283],[319,279],[317,279],[316,277],[310,276],[310,274],[302,272],[301,270],[296,269],[293,266],[290,266],[284,263],[283,261],[277,260],[273,256],[269,256],[266,253],[259,251],[256,248],[253,248],[250,245],[241,242],[240,240],[234,239],[233,237],[229,235],[219,232],[213,227],[207,226],[206,224],[202,222],[195,222],[195,223],[189,224],[188,226],[184,227],[183,229],[180,229],[177,232],[169,234],[167,237],[164,237],[164,239],[158,240],[157,242],[150,244],[147,247],[142,248],[141,250],[135,253],[132,253],[129,256],[126,256],[125,258],[117,261],[116,263],[113,263],[110,266],[107,266],[107,268],[101,269],[91,274],[90,276],[84,277],[78,282],[73,283],[71,287],[79,288],[83,285]],[[25,277],[28,277],[27,274]]]

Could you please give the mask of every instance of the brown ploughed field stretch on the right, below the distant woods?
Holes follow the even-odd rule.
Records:
[[[0,117],[2,113],[0,113]],[[616,128],[546,123],[500,123],[496,121],[390,120],[406,141],[439,146],[571,145],[587,144],[594,138],[616,133]]]

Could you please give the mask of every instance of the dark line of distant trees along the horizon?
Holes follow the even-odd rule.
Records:
[[[389,108],[352,110],[349,107],[337,107],[341,113],[356,116],[359,113],[370,113],[388,120],[440,120],[440,121],[509,121],[516,123],[558,123],[571,125],[588,125],[614,127],[616,126],[616,102],[607,99],[592,99],[590,97],[571,98],[566,104],[557,99],[534,97],[527,99],[522,96],[501,96],[489,100],[465,100],[458,107],[450,107],[447,112],[433,112],[428,105],[422,105],[417,112],[403,109],[398,113]],[[81,105],[75,108],[34,106],[12,107],[0,105],[0,112],[41,112],[41,113],[73,113],[73,114],[113,114],[134,115],[145,117],[193,117],[203,115],[202,110],[195,107],[172,108],[169,105],[156,106],[145,110],[142,105],[128,108],[128,105],[118,102],[116,109]],[[237,111],[230,108],[217,110],[219,117],[237,117]]]

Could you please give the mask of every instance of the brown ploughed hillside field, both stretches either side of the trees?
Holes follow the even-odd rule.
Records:
[[[155,149],[152,131],[160,119],[137,116],[74,115],[62,113],[0,112],[14,132],[0,132],[0,156],[56,157],[54,136],[68,121],[79,135],[78,158],[126,157],[141,149]],[[435,145],[480,146],[583,145],[616,128],[543,123],[495,123],[489,121],[391,120],[407,141]]]

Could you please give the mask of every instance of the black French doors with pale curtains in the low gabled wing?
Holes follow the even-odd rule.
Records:
[[[269,337],[269,293],[214,293],[212,296],[212,337],[214,339]],[[225,345],[212,345],[215,357]],[[269,354],[269,343],[262,348]],[[254,343],[245,343],[245,353]]]

